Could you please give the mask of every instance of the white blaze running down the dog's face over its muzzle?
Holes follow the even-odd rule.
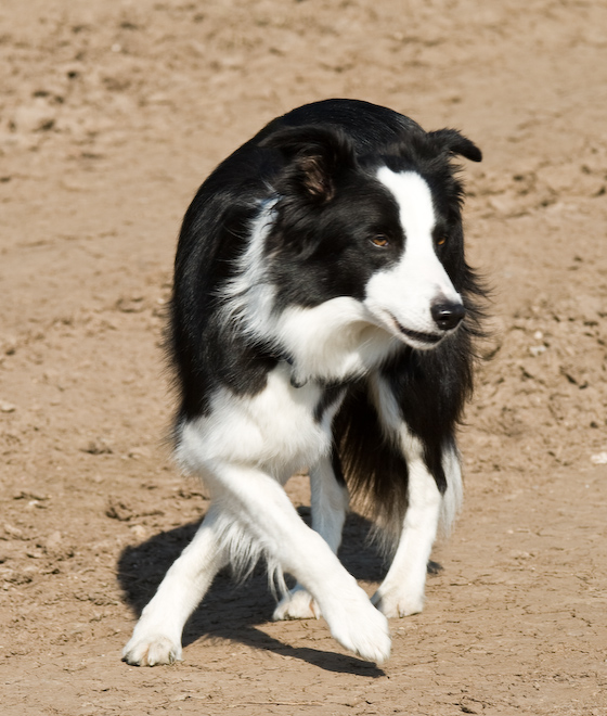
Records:
[[[379,323],[401,337],[402,328],[440,334],[430,312],[432,304],[461,303],[461,297],[435,251],[437,218],[430,188],[415,171],[395,172],[382,167],[377,179],[399,206],[404,251],[398,264],[371,278],[364,303]],[[417,347],[415,340],[404,340]]]

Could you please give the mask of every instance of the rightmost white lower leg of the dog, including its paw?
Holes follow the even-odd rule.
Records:
[[[437,534],[441,494],[421,450],[406,455],[409,508],[395,559],[373,603],[386,616],[408,616],[424,609],[427,564]]]

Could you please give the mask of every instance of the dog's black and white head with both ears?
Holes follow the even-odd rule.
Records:
[[[357,159],[346,138],[315,127],[267,144],[286,156],[268,238],[280,308],[349,297],[354,320],[365,316],[417,349],[457,329],[465,316],[462,190],[449,159],[477,158],[472,142],[435,132],[388,156]]]

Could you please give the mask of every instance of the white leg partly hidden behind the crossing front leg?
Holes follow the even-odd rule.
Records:
[[[322,458],[310,469],[312,493],[312,529],[331,547],[336,554],[341,542],[341,530],[348,511],[348,490],[335,477],[330,458]],[[319,618],[321,612],[313,597],[297,584],[279,602],[273,619]]]

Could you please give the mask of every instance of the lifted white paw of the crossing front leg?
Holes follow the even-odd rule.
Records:
[[[359,587],[346,599],[324,605],[322,613],[333,637],[361,659],[382,664],[390,655],[388,621]]]

